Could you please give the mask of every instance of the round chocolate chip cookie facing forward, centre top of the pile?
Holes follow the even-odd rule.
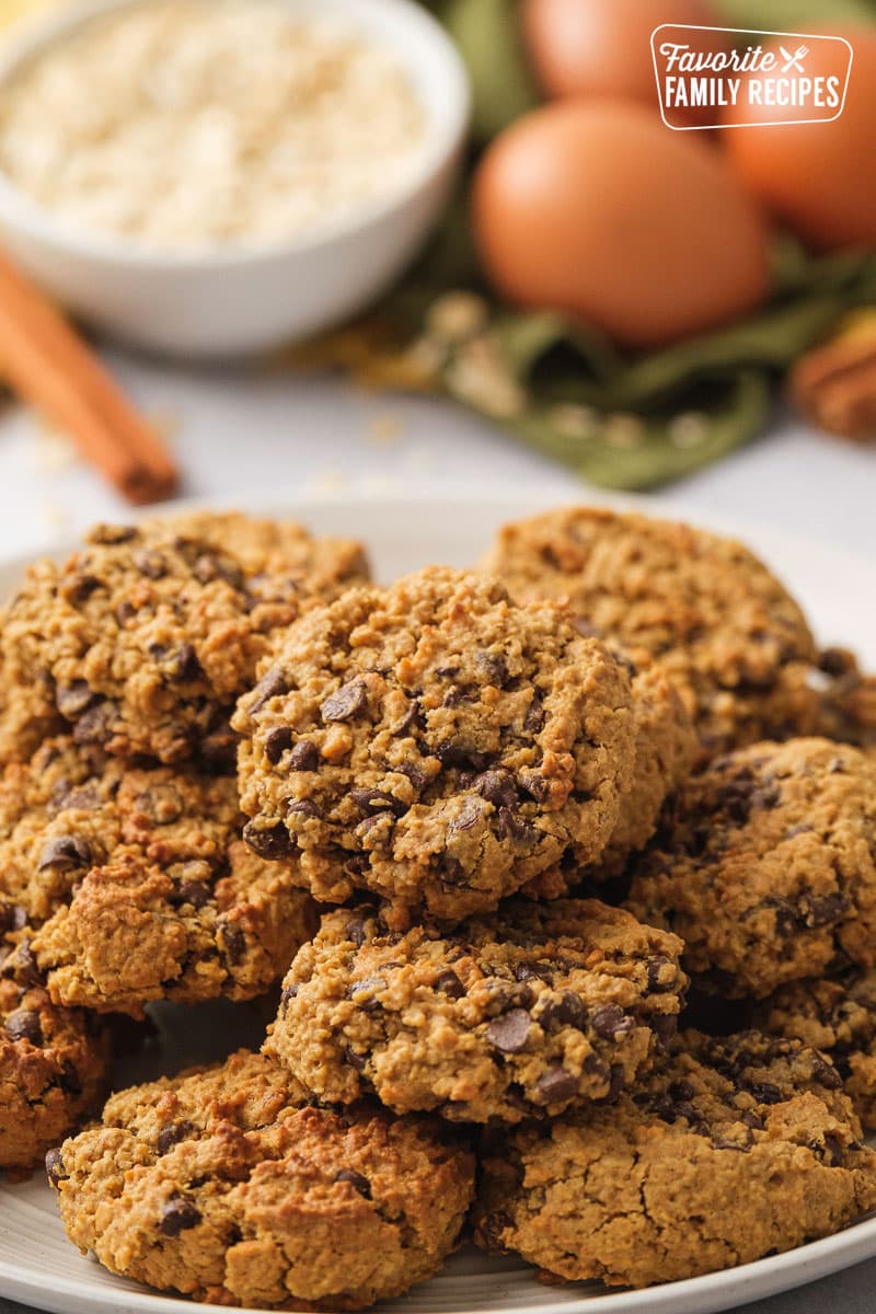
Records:
[[[556,603],[432,568],[303,616],[234,725],[246,838],[313,894],[458,920],[598,858],[633,763],[629,678]]]

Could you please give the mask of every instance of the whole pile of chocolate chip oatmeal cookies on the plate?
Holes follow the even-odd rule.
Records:
[[[49,1146],[112,1271],[360,1307],[474,1200],[646,1285],[876,1206],[872,700],[738,544],[557,512],[378,589],[294,526],[102,528],[0,656],[0,1163]],[[263,1053],[60,1143],[113,1013],[282,974]]]

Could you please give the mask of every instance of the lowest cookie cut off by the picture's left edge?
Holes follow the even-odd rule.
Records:
[[[0,976],[0,1168],[33,1168],[93,1109],[108,1056],[102,1021]]]

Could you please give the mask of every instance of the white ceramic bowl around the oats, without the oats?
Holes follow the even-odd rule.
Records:
[[[87,0],[20,25],[0,46],[0,83],[95,14],[138,3]],[[327,219],[313,235],[167,254],[77,231],[0,173],[5,250],[85,322],[173,356],[234,356],[301,340],[378,297],[435,226],[453,187],[469,117],[468,79],[453,43],[412,0],[277,3],[347,24],[391,50],[407,70],[427,117],[407,179],[387,197]]]

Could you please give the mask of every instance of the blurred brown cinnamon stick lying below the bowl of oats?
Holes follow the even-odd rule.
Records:
[[[51,302],[0,255],[0,376],[70,432],[129,502],[158,502],[179,473],[164,445]]]

